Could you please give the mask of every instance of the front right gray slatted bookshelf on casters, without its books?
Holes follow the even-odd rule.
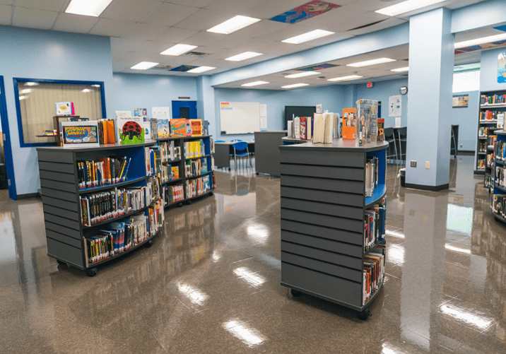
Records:
[[[364,301],[365,211],[380,201],[385,187],[387,142],[355,140],[280,146],[281,285],[370,316]],[[366,160],[378,158],[378,184],[365,196]]]

